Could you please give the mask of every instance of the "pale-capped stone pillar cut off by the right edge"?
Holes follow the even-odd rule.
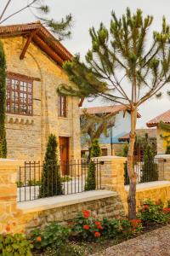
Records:
[[[163,177],[163,180],[170,181],[170,154],[157,154],[156,159],[157,158],[161,158],[164,160],[161,168],[163,170],[159,170],[159,172],[161,172],[161,179]]]

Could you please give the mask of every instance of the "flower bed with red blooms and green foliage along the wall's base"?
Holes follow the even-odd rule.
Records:
[[[35,221],[38,222],[38,219]],[[99,219],[94,212],[82,210],[67,226],[51,223],[43,230],[32,230],[27,237],[19,234],[13,236],[14,223],[8,224],[6,234],[0,236],[0,254],[83,256],[168,223],[170,205],[167,203],[167,207],[163,207],[161,201],[145,201],[139,208],[137,218],[132,220]]]

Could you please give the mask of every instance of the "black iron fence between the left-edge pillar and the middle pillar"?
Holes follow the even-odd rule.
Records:
[[[94,166],[95,189],[101,189],[100,163],[96,160]],[[87,184],[88,167],[87,160],[62,161],[59,165],[48,162],[46,166],[36,161],[25,162],[18,172],[18,201],[81,193]]]

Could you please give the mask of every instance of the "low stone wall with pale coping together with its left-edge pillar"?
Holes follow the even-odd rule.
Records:
[[[0,233],[7,225],[11,232],[17,233],[53,221],[65,224],[82,209],[91,210],[98,218],[124,216],[120,195],[104,189],[17,204],[16,176],[21,164],[17,160],[0,159]]]

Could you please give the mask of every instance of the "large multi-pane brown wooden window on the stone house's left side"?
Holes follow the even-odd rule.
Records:
[[[32,115],[32,81],[8,77],[6,100],[7,113]]]

